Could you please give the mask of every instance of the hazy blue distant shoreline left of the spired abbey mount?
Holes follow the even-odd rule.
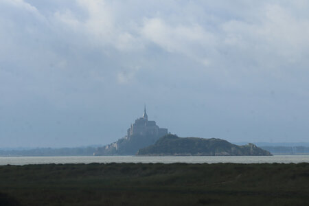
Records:
[[[0,156],[92,156],[96,148],[35,148],[30,150],[0,150]]]

